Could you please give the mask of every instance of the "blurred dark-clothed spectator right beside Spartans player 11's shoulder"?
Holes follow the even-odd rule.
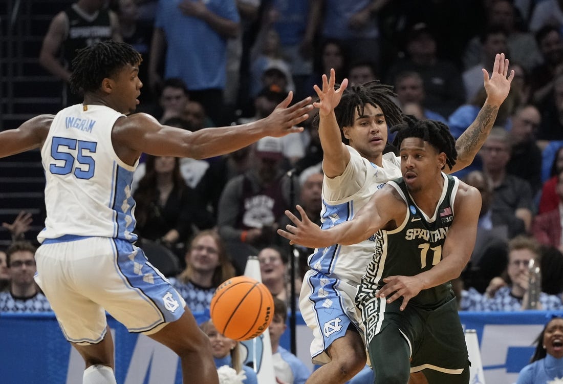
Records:
[[[491,211],[493,190],[489,180],[481,171],[472,171],[464,179],[468,185],[481,193],[481,211],[477,224],[475,248],[471,253],[466,270],[463,271],[463,287],[474,288],[485,293],[491,279],[500,276],[506,269],[508,260],[507,238],[511,221],[495,222]],[[465,305],[467,306],[467,300]]]

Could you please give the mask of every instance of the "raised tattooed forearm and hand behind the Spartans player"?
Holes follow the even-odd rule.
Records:
[[[459,169],[463,169],[473,162],[475,155],[479,152],[485,139],[489,136],[491,128],[493,128],[498,109],[510,91],[514,71],[511,70],[508,74],[508,59],[504,58],[504,53],[497,53],[497,56],[495,56],[490,78],[486,69],[482,69],[482,72],[487,94],[485,104],[477,114],[475,121],[455,141],[455,149],[458,153],[457,162],[451,171],[446,168],[444,171],[446,173],[459,171]]]

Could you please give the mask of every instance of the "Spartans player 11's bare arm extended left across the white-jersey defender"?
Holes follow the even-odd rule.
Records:
[[[368,239],[390,221],[404,220],[406,206],[402,200],[397,199],[396,191],[391,187],[373,194],[369,202],[363,206],[352,220],[348,220],[329,229],[320,229],[318,225],[309,220],[301,206],[297,206],[301,219],[290,211],[285,215],[294,225],[288,224],[286,230],[278,229],[278,234],[289,239],[290,244],[300,244],[309,248],[328,247],[332,244],[358,244]]]

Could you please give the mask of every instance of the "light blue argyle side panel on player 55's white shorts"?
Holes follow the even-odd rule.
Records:
[[[141,248],[127,240],[113,239],[115,271],[129,289],[136,291],[146,302],[152,303],[161,319],[143,328],[128,328],[129,332],[147,332],[162,323],[174,322],[184,314],[180,294],[147,260]]]

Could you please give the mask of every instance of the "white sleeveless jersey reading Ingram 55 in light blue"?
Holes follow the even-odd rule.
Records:
[[[115,154],[111,130],[118,111],[77,104],[53,119],[41,158],[45,172],[45,228],[37,236],[102,236],[135,242],[131,181],[137,166]]]

